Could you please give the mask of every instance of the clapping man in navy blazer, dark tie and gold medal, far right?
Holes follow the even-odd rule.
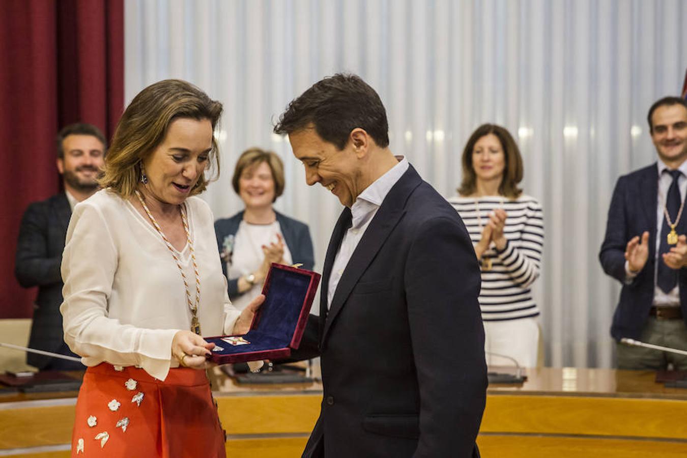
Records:
[[[658,161],[618,179],[599,259],[622,283],[611,326],[618,368],[685,370],[687,356],[620,343],[687,350],[687,104],[662,98],[648,121]]]

